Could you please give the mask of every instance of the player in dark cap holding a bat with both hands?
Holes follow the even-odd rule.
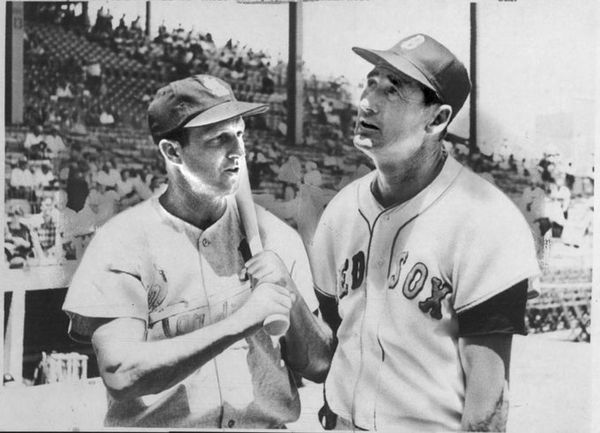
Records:
[[[243,258],[232,196],[242,116],[265,110],[208,75],[174,81],[151,102],[168,187],[98,230],[63,307],[70,335],[97,354],[107,426],[282,428],[300,413],[289,370],[324,380],[332,338],[311,313],[299,236],[256,207],[265,250]],[[262,328],[274,314],[290,317],[281,345]]]

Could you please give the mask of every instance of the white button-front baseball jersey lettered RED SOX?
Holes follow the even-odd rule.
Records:
[[[459,430],[465,397],[457,314],[538,273],[513,203],[448,157],[417,196],[383,208],[375,172],[325,209],[311,264],[342,322],[331,409],[364,429]]]

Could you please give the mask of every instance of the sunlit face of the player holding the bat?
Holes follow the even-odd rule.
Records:
[[[245,156],[244,130],[241,117],[189,129],[181,171],[194,190],[215,196],[235,192]]]

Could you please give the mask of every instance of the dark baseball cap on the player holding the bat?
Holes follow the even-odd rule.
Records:
[[[238,101],[231,86],[220,78],[194,75],[158,89],[148,106],[148,126],[158,142],[180,128],[210,125],[268,109],[266,104]]]

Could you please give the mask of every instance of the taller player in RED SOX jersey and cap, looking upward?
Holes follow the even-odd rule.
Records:
[[[533,238],[503,193],[444,151],[470,91],[462,63],[423,34],[354,51],[373,64],[354,144],[376,169],[329,203],[309,250],[338,342],[321,421],[504,430]]]

